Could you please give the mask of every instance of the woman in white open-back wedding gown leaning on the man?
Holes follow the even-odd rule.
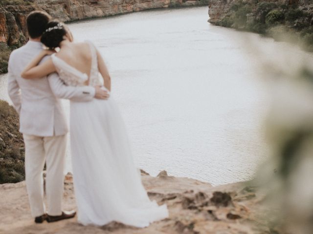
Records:
[[[111,90],[108,69],[89,42],[74,43],[66,25],[50,21],[41,41],[50,50],[22,72],[26,79],[57,72],[67,85],[99,85]],[[55,48],[58,53],[53,53]],[[52,55],[51,55],[52,54]],[[40,61],[46,56],[45,62]],[[40,63],[40,64],[39,64]],[[166,218],[166,205],[150,201],[131,155],[128,137],[114,100],[70,102],[70,140],[78,221],[105,225],[118,221],[135,227]]]

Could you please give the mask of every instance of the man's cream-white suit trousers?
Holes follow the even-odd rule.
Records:
[[[64,165],[67,137],[23,135],[25,143],[26,189],[33,217],[45,214],[43,170],[46,163],[45,192],[47,214],[62,214]]]

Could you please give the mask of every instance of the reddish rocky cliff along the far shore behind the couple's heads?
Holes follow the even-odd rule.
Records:
[[[62,21],[112,16],[154,8],[207,5],[208,0],[1,0],[0,73],[7,71],[12,49],[27,39],[26,16],[44,10]]]

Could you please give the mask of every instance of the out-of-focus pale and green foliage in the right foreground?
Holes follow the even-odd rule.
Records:
[[[281,71],[268,69],[268,72],[276,84],[266,120],[270,157],[256,181],[267,195],[265,204],[270,208],[267,218],[276,227],[275,233],[312,234],[312,63],[303,61],[292,69],[286,64]]]

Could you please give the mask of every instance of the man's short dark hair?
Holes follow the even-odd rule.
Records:
[[[26,19],[29,37],[41,37],[49,20],[51,20],[51,16],[45,11],[32,11]]]

